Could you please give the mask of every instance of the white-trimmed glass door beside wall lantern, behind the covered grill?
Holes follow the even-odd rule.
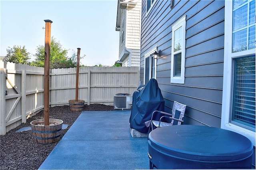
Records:
[[[146,85],[151,78],[156,79],[156,60],[153,53],[157,51],[157,47],[150,50],[144,55],[144,84]]]

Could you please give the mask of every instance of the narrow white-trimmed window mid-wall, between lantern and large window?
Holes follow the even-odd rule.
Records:
[[[172,26],[171,83],[185,82],[186,16]]]

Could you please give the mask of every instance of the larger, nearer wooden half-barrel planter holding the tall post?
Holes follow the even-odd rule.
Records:
[[[57,142],[60,140],[62,123],[60,119],[49,119],[48,126],[44,126],[44,119],[30,122],[34,141],[41,144]]]

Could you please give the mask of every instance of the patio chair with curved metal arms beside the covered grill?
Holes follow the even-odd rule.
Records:
[[[148,126],[150,126],[148,133],[150,132],[150,128],[153,130],[154,128],[158,128],[158,127],[181,125],[181,123],[184,122],[183,117],[185,114],[185,110],[186,110],[186,105],[174,101],[174,104],[172,107],[172,114],[166,113],[163,111],[153,111],[151,120],[150,120],[150,124],[148,124]],[[153,118],[156,117],[156,116],[154,116],[155,114],[162,114],[164,116],[160,117],[159,120],[153,120]],[[169,119],[172,121],[170,123],[166,122],[166,121],[164,121],[164,118],[166,118],[165,120]]]

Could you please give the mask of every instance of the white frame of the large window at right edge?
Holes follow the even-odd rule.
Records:
[[[224,38],[224,73],[221,128],[237,132],[249,138],[255,146],[255,132],[230,123],[232,111],[232,87],[233,87],[233,59],[248,55],[255,55],[255,49],[232,53],[232,14],[233,1],[225,1],[225,38]]]

